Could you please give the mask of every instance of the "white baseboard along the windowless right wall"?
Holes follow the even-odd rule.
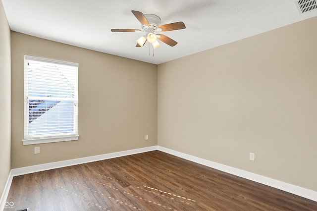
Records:
[[[265,177],[265,176],[262,176],[259,174],[251,173],[249,171],[244,171],[244,170],[241,170],[238,168],[223,165],[223,164],[220,164],[217,162],[212,162],[212,161],[207,160],[207,159],[198,158],[195,156],[187,155],[185,153],[180,153],[180,152],[177,152],[175,150],[170,150],[168,148],[158,146],[158,150],[161,152],[164,152],[164,153],[168,153],[168,154],[173,155],[173,156],[177,156],[179,158],[184,158],[184,159],[187,159],[187,160],[190,160],[190,161],[202,164],[202,165],[206,165],[206,166],[209,166],[211,168],[215,168],[215,169],[218,169],[220,171],[224,171],[224,172],[229,173],[229,174],[233,174],[233,175],[236,175],[239,177],[243,177],[245,179],[259,182],[261,184],[264,184],[264,185],[267,185],[267,186],[270,186],[273,188],[277,188],[277,189],[280,189],[280,190],[295,194],[297,196],[301,196],[301,197],[304,197],[304,198],[307,198],[307,199],[310,199],[310,200],[317,202],[317,192],[316,191],[312,191],[312,190],[302,188],[302,187],[299,187],[296,185],[292,185],[292,184],[289,184],[286,182],[282,182],[279,180],[271,179],[271,178],[268,178],[268,177]]]

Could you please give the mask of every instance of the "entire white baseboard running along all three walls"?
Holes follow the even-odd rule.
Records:
[[[170,150],[168,148],[160,147],[160,146],[152,146],[152,147],[146,147],[146,148],[140,148],[140,149],[134,149],[134,150],[127,150],[127,151],[121,151],[116,153],[109,153],[104,155],[98,155],[98,156],[92,156],[92,157],[86,157],[86,158],[77,158],[77,159],[70,159],[70,160],[64,160],[64,161],[58,161],[58,162],[52,162],[52,163],[45,163],[40,165],[33,165],[33,166],[27,166],[22,168],[14,168],[11,170],[9,177],[7,179],[4,191],[2,193],[1,199],[0,199],[0,210],[4,209],[5,200],[7,199],[7,196],[9,194],[10,186],[12,183],[13,176],[28,174],[28,173],[34,173],[44,170],[50,170],[54,168],[60,168],[60,167],[66,167],[71,165],[77,165],[87,162],[94,162],[98,160],[104,160],[104,159],[110,159],[110,158],[118,158],[128,155],[134,155],[138,153],[145,153],[149,151],[159,150],[164,153],[168,153],[170,155],[174,155],[180,158],[184,158],[202,165],[209,166],[211,168],[218,169],[220,171],[224,171],[236,176],[240,176],[255,182],[262,183],[264,185],[271,186],[273,188],[277,188],[313,201],[317,202],[317,192],[312,191],[306,188],[302,188],[296,185],[292,185],[286,182],[278,181],[275,179],[271,179],[259,174],[251,173],[248,171],[244,171],[238,168],[230,167],[227,165],[223,165],[220,163],[212,162],[207,159],[198,158],[195,156],[191,156],[185,153],[181,153],[175,150]]]

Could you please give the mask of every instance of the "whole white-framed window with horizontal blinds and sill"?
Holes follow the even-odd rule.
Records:
[[[78,64],[24,56],[23,145],[78,140]]]

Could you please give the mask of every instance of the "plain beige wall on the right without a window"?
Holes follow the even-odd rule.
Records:
[[[316,26],[160,64],[158,145],[317,191]]]

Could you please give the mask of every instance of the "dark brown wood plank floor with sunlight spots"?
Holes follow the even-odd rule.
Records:
[[[30,211],[317,211],[317,202],[159,151],[16,176],[7,202]]]

